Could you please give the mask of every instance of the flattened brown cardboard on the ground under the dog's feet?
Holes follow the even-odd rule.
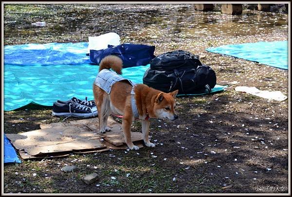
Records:
[[[52,158],[73,153],[127,149],[121,124],[109,117],[111,131],[98,131],[98,118],[40,125],[40,130],[6,134],[23,159]],[[131,132],[133,143],[143,147],[143,135]]]

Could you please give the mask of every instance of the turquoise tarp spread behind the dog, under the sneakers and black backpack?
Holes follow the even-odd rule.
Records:
[[[123,69],[122,76],[135,83],[143,83],[147,66]],[[18,109],[31,102],[52,106],[54,101],[72,97],[93,99],[92,84],[99,66],[54,65],[15,66],[4,65],[4,110]],[[212,92],[223,90],[216,85]]]

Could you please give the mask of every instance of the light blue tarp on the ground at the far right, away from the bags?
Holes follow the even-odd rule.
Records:
[[[224,45],[206,50],[277,68],[288,69],[288,41]]]

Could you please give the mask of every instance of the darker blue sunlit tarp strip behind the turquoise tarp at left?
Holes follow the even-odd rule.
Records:
[[[4,64],[10,65],[79,65],[90,64],[87,42],[25,44],[4,47]]]

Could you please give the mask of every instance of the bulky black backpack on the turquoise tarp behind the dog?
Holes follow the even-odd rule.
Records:
[[[174,90],[179,90],[179,94],[210,93],[216,85],[216,74],[193,53],[175,50],[150,61],[143,83],[166,93]]]

